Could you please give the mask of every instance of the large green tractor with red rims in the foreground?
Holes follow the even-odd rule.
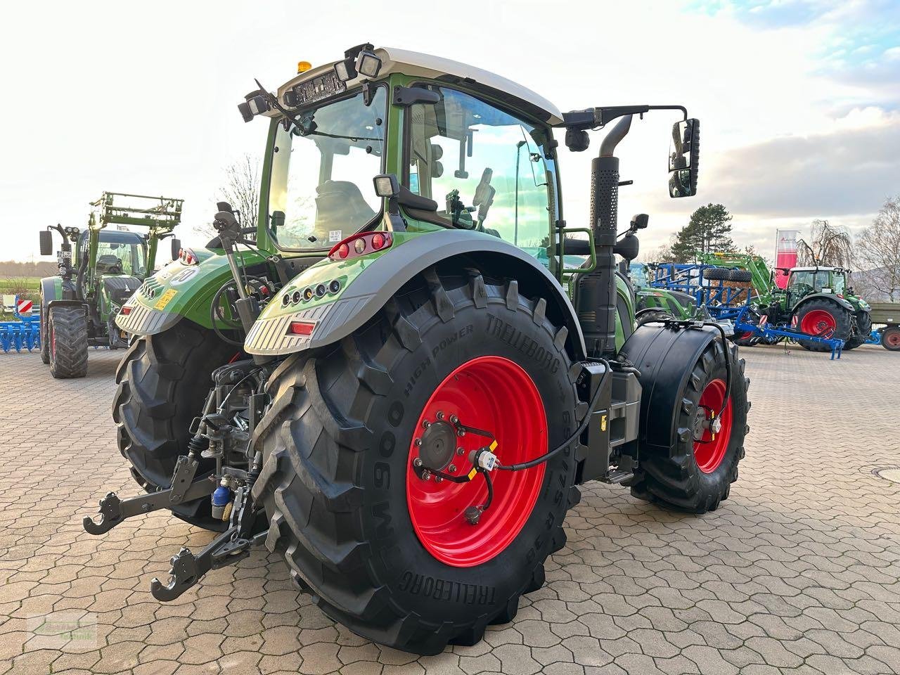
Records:
[[[680,111],[670,190],[695,193],[683,107],[563,113],[366,44],[239,109],[268,122],[259,213],[220,202],[219,236],[116,320],[137,338],[113,418],[148,494],[108,494],[85,529],[171,509],[221,533],[175,555],[157,599],[266,545],[329,617],[438,653],[541,588],[579,484],[694,513],[728,498],[743,361],[715,325],[636,327],[616,268],[646,223],[617,238],[617,144],[633,115]],[[554,133],[582,151],[607,125],[590,227],[570,228]]]

